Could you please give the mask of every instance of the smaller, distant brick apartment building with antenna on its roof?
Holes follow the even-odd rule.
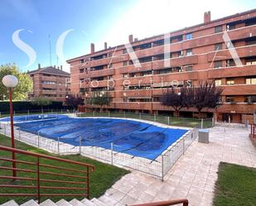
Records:
[[[56,66],[48,66],[29,71],[33,80],[33,92],[29,98],[48,97],[54,101],[65,101],[65,97],[70,93],[70,74]]]

